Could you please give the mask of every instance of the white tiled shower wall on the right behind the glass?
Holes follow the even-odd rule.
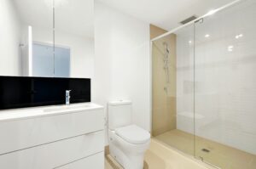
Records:
[[[247,1],[195,25],[195,134],[254,155],[255,8],[255,1]],[[177,128],[193,132],[193,50],[182,35],[177,34]]]

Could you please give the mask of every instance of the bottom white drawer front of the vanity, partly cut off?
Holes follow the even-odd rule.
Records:
[[[104,152],[91,155],[79,161],[74,161],[65,166],[56,167],[55,169],[104,169]]]

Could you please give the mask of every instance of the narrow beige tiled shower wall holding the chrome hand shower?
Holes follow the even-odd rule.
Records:
[[[151,25],[151,37],[157,32],[165,31]],[[166,70],[164,70],[164,42],[170,50],[169,54],[169,82],[167,82]],[[176,35],[161,38],[152,44],[153,65],[153,114],[152,135],[176,129]]]

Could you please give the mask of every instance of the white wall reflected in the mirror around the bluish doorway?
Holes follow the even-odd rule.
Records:
[[[52,43],[52,30],[32,26],[32,39],[35,42]],[[70,76],[91,78],[94,74],[94,39],[66,32],[55,31],[55,45],[68,47],[71,52]]]

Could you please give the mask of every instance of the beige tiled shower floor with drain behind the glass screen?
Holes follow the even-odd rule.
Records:
[[[176,129],[160,134],[155,139],[186,154],[194,155],[194,135],[188,132]],[[202,157],[204,161],[222,169],[256,169],[256,155],[200,137],[195,138],[195,143],[195,156]]]

